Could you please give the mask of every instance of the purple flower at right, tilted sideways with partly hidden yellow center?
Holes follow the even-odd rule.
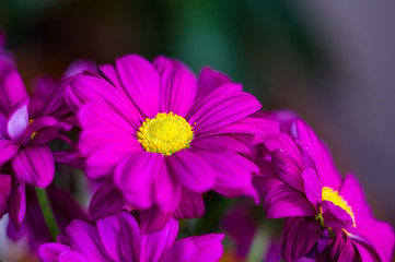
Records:
[[[287,219],[282,253],[286,261],[302,257],[320,261],[390,261],[392,227],[376,221],[356,177],[342,180],[327,147],[301,120],[277,117],[281,130],[259,145],[268,218]]]

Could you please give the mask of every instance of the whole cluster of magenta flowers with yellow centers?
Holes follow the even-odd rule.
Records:
[[[258,111],[226,75],[205,68],[196,78],[179,61],[127,55],[98,71],[79,61],[28,96],[3,43],[0,216],[9,213],[11,238],[26,233],[33,250],[47,242],[42,261],[219,261],[222,234],[176,240],[177,219],[202,216],[208,191],[263,199],[268,218],[287,217],[286,261],[391,260],[393,230],[373,217],[356,178],[341,178],[306,123]],[[54,141],[68,147],[51,152]],[[57,188],[62,174],[53,183],[56,163],[92,182],[89,216]],[[50,183],[46,203],[34,187]],[[246,257],[256,227],[230,226],[247,224],[244,207],[224,227]],[[278,246],[270,250],[259,258],[277,261]]]

